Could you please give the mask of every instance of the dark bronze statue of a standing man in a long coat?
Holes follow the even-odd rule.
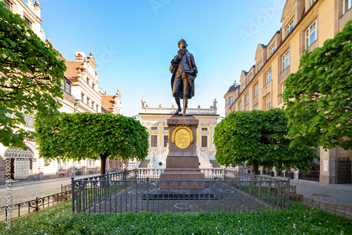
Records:
[[[175,115],[180,113],[180,99],[183,99],[183,113],[182,115],[187,116],[187,104],[188,99],[194,96],[194,80],[197,75],[197,67],[194,62],[194,57],[189,51],[187,51],[187,43],[184,39],[178,42],[180,50],[177,55],[172,59],[170,65],[170,72],[172,73],[171,78],[171,89],[172,96],[175,97],[177,103],[177,110]]]

